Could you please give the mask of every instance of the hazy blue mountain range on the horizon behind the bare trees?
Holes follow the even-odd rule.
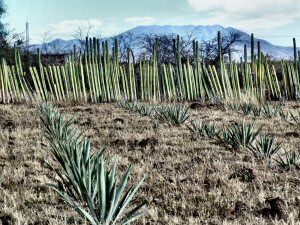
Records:
[[[193,37],[201,42],[209,41],[217,36],[217,32],[221,31],[222,35],[228,35],[231,32],[239,33],[241,41],[235,46],[235,49],[238,50],[235,53],[235,58],[239,59],[239,56],[243,55],[244,44],[247,45],[248,52],[250,52],[250,43],[251,43],[251,35],[243,32],[241,30],[232,28],[232,27],[223,27],[220,25],[212,25],[212,26],[195,26],[195,25],[187,25],[187,26],[137,26],[130,30],[127,30],[121,34],[116,36],[104,38],[102,40],[108,40],[109,43],[113,43],[114,39],[120,38],[131,38],[133,41],[132,48],[134,52],[139,52],[138,45],[134,44],[134,41],[137,37],[141,35],[161,35],[161,34],[179,34],[182,37],[185,37],[187,34],[193,34]],[[293,48],[292,47],[282,47],[271,44],[270,42],[262,39],[256,39],[255,43],[260,41],[261,49],[265,54],[270,55],[275,59],[291,59],[293,57]],[[30,46],[31,51],[36,51],[38,48],[42,49],[43,52],[47,53],[69,53],[72,51],[74,45],[77,47],[81,46],[81,42],[79,39],[72,40],[62,40],[55,39],[49,43],[36,44]],[[255,44],[256,46],[256,44]]]

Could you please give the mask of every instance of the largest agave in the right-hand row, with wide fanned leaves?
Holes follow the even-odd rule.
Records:
[[[216,137],[219,141],[229,145],[232,149],[238,150],[243,147],[250,146],[260,135],[262,127],[254,128],[254,124],[234,124],[224,131],[220,132]]]

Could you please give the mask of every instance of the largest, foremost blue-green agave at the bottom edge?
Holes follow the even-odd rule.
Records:
[[[55,190],[79,215],[93,225],[125,225],[142,217],[146,213],[146,210],[141,211],[146,201],[143,201],[131,210],[127,209],[138,189],[143,184],[145,177],[138,184],[126,190],[132,170],[131,166],[128,167],[118,184],[116,163],[112,168],[109,168],[106,161],[100,158],[98,164],[97,180],[95,183],[97,194],[95,197],[92,197],[84,193],[84,204],[77,203],[67,193],[63,193],[58,189]]]

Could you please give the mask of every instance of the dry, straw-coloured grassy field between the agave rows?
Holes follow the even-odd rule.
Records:
[[[75,117],[75,125],[94,147],[107,146],[105,156],[115,157],[121,171],[133,164],[129,182],[147,175],[137,200],[148,201],[148,213],[137,224],[299,223],[299,171],[284,169],[275,160],[284,151],[298,150],[299,127],[279,115],[244,115],[209,103],[189,109],[191,116],[185,122],[263,126],[264,134],[282,141],[269,160],[195,135],[186,125],[143,117],[115,103],[58,106]],[[296,112],[300,104],[289,102],[281,108],[284,113]],[[0,105],[0,129],[2,224],[87,224],[47,186],[57,177],[46,168],[45,160],[55,162],[47,151],[37,105]]]

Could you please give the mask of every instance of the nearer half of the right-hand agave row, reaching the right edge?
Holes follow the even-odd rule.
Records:
[[[213,122],[193,120],[187,127],[193,134],[213,139],[234,151],[248,150],[256,158],[266,159],[269,163],[274,159],[285,170],[300,169],[300,149],[282,154],[282,142],[278,142],[274,136],[263,134],[262,127],[256,129],[254,124],[233,124],[219,128]]]

